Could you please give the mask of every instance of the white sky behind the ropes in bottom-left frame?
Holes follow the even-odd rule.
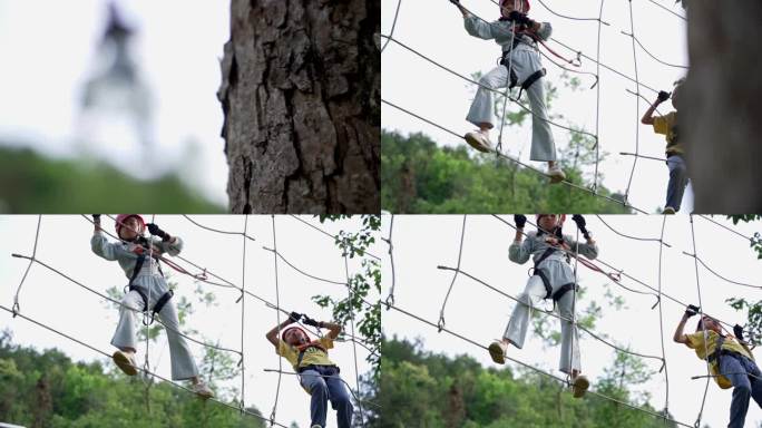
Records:
[[[150,221],[152,216],[145,216]],[[236,215],[190,216],[197,223],[223,231],[242,232],[244,217]],[[335,247],[333,239],[325,236],[291,216],[275,216],[279,252],[299,269],[312,275],[345,282],[344,261],[341,252]],[[359,227],[358,220],[343,220],[334,224],[320,224],[314,217],[301,217],[332,234],[340,230],[353,231]],[[28,261],[11,257],[11,253],[31,255],[37,227],[37,216],[14,215],[0,216],[0,282],[6,284],[0,291],[1,304],[10,308]],[[241,235],[226,235],[205,231],[187,218],[175,215],[157,215],[155,223],[168,233],[180,236],[185,247],[182,256],[207,268],[209,272],[225,278],[241,285],[242,283],[242,250]],[[104,227],[114,230],[114,222],[104,218]],[[272,217],[248,216],[248,235],[256,241],[246,244],[245,289],[261,298],[276,302],[275,271],[273,253],[263,249],[273,247]],[[123,288],[127,283],[124,272],[116,263],[107,262],[90,251],[92,226],[81,216],[52,215],[42,216],[40,226],[37,259],[61,270],[77,281],[105,292],[111,286]],[[380,251],[371,250],[374,254]],[[185,265],[184,263],[179,262]],[[185,265],[187,266],[187,265]],[[350,274],[360,269],[355,260],[350,261]],[[170,279],[177,282],[175,300],[186,296],[194,300],[193,280],[176,274],[165,266],[165,272],[173,272]],[[346,296],[346,289],[342,285],[311,280],[289,268],[279,260],[279,288],[281,307],[287,311],[310,314],[316,320],[331,320],[330,310],[323,310],[311,301],[316,294],[329,294],[335,299]],[[194,304],[196,312],[190,315],[186,329],[196,329],[209,342],[219,341],[221,346],[241,349],[241,305],[236,303],[237,292],[209,285],[201,286],[205,291],[215,293],[216,305],[206,308]],[[369,295],[368,300],[377,300],[377,295]],[[111,335],[116,329],[118,312],[105,304],[105,301],[76,286],[46,268],[35,264],[27,276],[20,293],[20,309],[26,317],[55,327],[106,352],[114,351],[110,346]],[[65,302],[63,305],[60,303]],[[9,329],[13,334],[13,342],[33,347],[38,350],[57,348],[75,361],[104,361],[106,367],[110,360],[96,354],[92,350],[78,343],[68,341],[55,333],[42,330],[20,318],[11,318],[4,311],[0,313],[0,325]],[[281,314],[281,321],[284,314]],[[265,307],[253,298],[245,301],[244,353],[245,353],[245,389],[246,405],[255,405],[263,415],[272,411],[277,374],[264,372],[266,369],[279,368],[279,357],[274,348],[265,339],[265,333],[276,324],[276,311]],[[349,325],[346,331],[350,331]],[[203,348],[189,342],[196,361],[203,356]],[[138,349],[137,360],[144,360],[145,347]],[[365,373],[370,366],[365,362],[368,351],[358,347],[359,372]],[[150,363],[154,370],[169,378],[169,354],[166,335],[160,333],[157,346],[149,348]],[[354,388],[355,370],[354,354],[351,342],[336,342],[331,350],[330,358],[342,369],[342,378]],[[237,356],[233,354],[237,361]],[[293,371],[287,362],[283,370]],[[240,387],[241,378],[235,378],[231,386]],[[309,396],[299,386],[294,376],[284,374],[277,405],[276,420],[284,425],[297,421],[299,426],[309,426]],[[12,422],[12,421],[11,421]],[[331,411],[329,425],[335,426],[335,416]]]

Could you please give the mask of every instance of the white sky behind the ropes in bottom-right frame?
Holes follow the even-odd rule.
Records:
[[[612,232],[598,217],[594,215],[585,217],[590,234],[598,243],[602,261],[658,289],[658,242],[625,239]],[[501,218],[514,223],[512,215],[504,215]],[[617,232],[642,239],[658,239],[663,221],[663,216],[657,215],[608,215],[602,218]],[[724,216],[715,216],[712,220],[746,236],[762,232],[762,222],[759,221],[733,225]],[[453,273],[439,270],[437,266],[455,268],[457,265],[462,221],[462,215],[394,216],[392,243],[395,305],[431,322],[436,323],[439,320],[440,309]],[[534,216],[529,216],[529,221],[535,223]],[[389,216],[384,216],[383,223],[382,234],[389,236]],[[759,282],[762,264],[756,259],[756,253],[749,247],[748,240],[703,217],[694,217],[694,227],[696,253],[706,265],[732,281],[762,286]],[[527,225],[526,231],[531,230],[534,226]],[[564,231],[573,236],[577,233],[570,218]],[[514,235],[512,228],[492,216],[469,215],[466,220],[461,270],[517,296],[528,280],[527,269],[530,264],[519,265],[508,261],[508,246]],[[698,283],[704,311],[731,325],[744,324],[745,313],[730,308],[725,299],[743,296],[756,301],[760,290],[724,282],[701,264],[696,280],[694,259],[683,254],[684,251],[694,253],[688,216],[667,216],[664,242],[671,246],[664,246],[663,250],[662,291],[681,302],[698,304],[696,285]],[[610,272],[606,268],[603,269]],[[382,273],[384,286],[381,295],[385,299],[392,283],[389,257],[384,259]],[[605,334],[617,346],[629,346],[636,352],[661,358],[660,312],[658,307],[652,309],[656,302],[654,295],[626,291],[603,274],[582,265],[578,268],[578,276],[579,285],[585,293],[577,301],[577,308],[587,308],[593,301],[603,307],[602,318],[596,322],[594,332]],[[648,291],[645,286],[628,279],[623,279],[622,284],[636,291]],[[617,310],[608,305],[608,300],[605,298],[607,292],[623,298],[625,307]],[[461,275],[456,280],[444,308],[446,327],[488,346],[502,334],[514,307],[515,301]],[[664,356],[670,379],[668,408],[674,418],[693,425],[701,407],[705,379],[691,380],[691,377],[705,374],[706,366],[692,350],[672,341],[684,309],[682,304],[666,298],[662,299]],[[497,367],[487,351],[448,333],[437,333],[436,328],[394,310],[384,310],[382,315],[383,330],[388,338],[393,335],[409,340],[420,338],[423,340],[426,350],[450,357],[468,354],[483,367]],[[688,322],[686,332],[693,331],[695,322],[695,318]],[[550,320],[550,328],[558,331],[557,319]],[[544,348],[541,340],[534,337],[530,330],[524,349],[511,347],[508,356],[563,377],[563,373],[558,371],[559,352],[560,347]],[[587,333],[580,332],[580,352],[583,372],[590,378],[590,388],[596,389],[596,380],[604,373],[604,368],[610,367],[614,361],[614,350]],[[756,354],[759,357],[759,352]],[[664,373],[658,373],[661,360],[645,359],[644,361],[653,376],[651,381],[638,387],[637,390],[649,391],[652,406],[663,409],[667,390]],[[512,362],[508,366],[517,367]],[[726,426],[731,395],[732,390],[721,390],[714,382],[710,385],[702,427],[704,424],[713,428]],[[588,396],[586,399],[597,398]],[[746,426],[758,426],[760,422],[762,422],[762,409],[752,402],[746,417]]]

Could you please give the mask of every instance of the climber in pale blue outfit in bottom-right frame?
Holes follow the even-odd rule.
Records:
[[[509,344],[521,349],[533,309],[537,308],[540,301],[551,299],[554,307],[558,309],[558,314],[563,318],[561,353],[558,368],[570,376],[574,397],[579,398],[587,391],[589,381],[580,374],[579,338],[576,325],[570,322],[574,319],[574,294],[577,291],[577,280],[569,265],[567,252],[579,253],[593,260],[598,256],[598,246],[590,237],[582,215],[574,215],[572,220],[587,242],[578,243],[572,236],[564,235],[561,227],[565,217],[563,214],[537,214],[537,232],[527,233],[527,240],[521,242],[527,217],[520,214],[514,216],[516,237],[508,249],[508,259],[524,264],[529,257],[534,257],[535,268],[524,293],[518,296],[519,303],[514,309],[502,339],[489,346],[489,354],[492,361],[504,364]]]

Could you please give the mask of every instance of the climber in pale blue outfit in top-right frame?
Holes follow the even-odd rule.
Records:
[[[479,89],[466,117],[479,129],[466,134],[466,142],[479,152],[492,152],[489,140],[489,130],[495,127],[492,90],[519,86],[519,98],[521,91],[526,90],[533,113],[530,159],[547,162],[550,182],[563,182],[566,175],[556,163],[556,145],[547,121],[543,88],[545,69],[537,50],[537,41],[548,40],[553,32],[550,23],[536,22],[527,17],[529,0],[501,0],[500,19],[495,22],[486,22],[471,14],[459,0],[450,2],[463,14],[469,35],[486,40],[495,39],[502,48],[500,65],[479,80]]]

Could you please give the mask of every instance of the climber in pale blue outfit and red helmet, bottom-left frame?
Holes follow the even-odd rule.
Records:
[[[158,256],[167,253],[179,254],[183,241],[170,236],[156,224],[146,225],[137,214],[120,214],[116,218],[116,233],[121,240],[110,243],[100,228],[100,215],[92,215],[95,233],[90,240],[92,252],[108,261],[119,262],[119,266],[129,279],[129,289],[121,300],[119,324],[111,344],[118,348],[114,352],[114,362],[127,376],[137,374],[135,352],[137,349],[135,312],[150,312],[150,321],[158,314],[167,330],[169,357],[172,359],[172,379],[190,380],[190,389],[201,398],[213,397],[212,390],[198,378],[198,369],[193,361],[185,339],[179,334],[177,311],[172,302],[172,290],[162,273]],[[156,237],[146,239],[146,227]]]

